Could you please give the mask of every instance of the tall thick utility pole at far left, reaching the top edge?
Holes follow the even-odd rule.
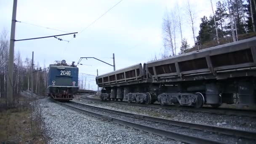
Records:
[[[9,49],[9,63],[8,63],[8,80],[7,80],[7,106],[13,106],[13,57],[14,57],[14,39],[16,27],[16,10],[17,0],[13,0],[13,15],[11,20],[11,39]]]

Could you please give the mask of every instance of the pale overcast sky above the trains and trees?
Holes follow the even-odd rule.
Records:
[[[184,11],[187,0],[123,0],[98,21],[88,27],[109,8],[120,0],[18,0],[16,20],[16,40],[64,34],[52,29],[45,29],[29,24],[40,25],[66,32],[78,32],[76,38],[72,35],[62,36],[69,43],[55,38],[27,40],[15,42],[15,52],[20,51],[23,59],[31,58],[34,51],[35,64],[39,62],[46,67],[54,61],[65,59],[67,63],[77,61],[80,57],[96,57],[112,64],[112,53],[115,53],[116,69],[149,61],[155,54],[163,51],[162,19],[165,11],[172,11],[178,3],[181,8],[183,37],[192,45],[192,30],[187,24]],[[195,11],[196,35],[198,34],[200,18],[209,16],[210,0],[189,0]],[[213,0],[215,7],[217,0]],[[13,0],[0,0],[0,30],[4,28],[11,32]],[[29,23],[29,24],[25,24]],[[87,29],[85,29],[88,27]],[[84,30],[84,31],[83,31]],[[83,31],[83,32],[81,32]],[[178,37],[179,40],[179,37]],[[180,42],[177,42],[180,46]],[[78,66],[79,71],[91,75],[111,72],[113,67],[94,59],[83,59]],[[82,75],[80,75],[81,77]],[[85,75],[84,75],[85,77]],[[93,85],[95,78],[87,77],[87,87]]]

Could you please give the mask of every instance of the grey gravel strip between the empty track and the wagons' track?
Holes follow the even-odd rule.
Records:
[[[109,101],[91,101],[87,99],[75,99],[81,103],[92,106],[104,107],[107,109],[131,112],[139,115],[160,117],[170,120],[179,120],[189,123],[199,123],[205,125],[215,125],[225,128],[235,128],[244,131],[256,131],[256,118],[237,115],[218,115],[203,112],[189,112],[179,109],[164,109],[153,107],[139,107],[127,104],[111,103]]]

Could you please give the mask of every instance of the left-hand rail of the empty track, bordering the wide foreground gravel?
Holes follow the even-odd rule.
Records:
[[[183,133],[177,133],[177,132],[174,132],[174,131],[167,131],[167,130],[163,130],[163,129],[160,129],[160,128],[155,128],[155,127],[148,126],[148,125],[134,123],[134,122],[131,122],[131,121],[128,121],[128,120],[122,120],[122,119],[119,119],[119,118],[115,118],[115,117],[99,114],[99,113],[96,113],[96,112],[92,112],[92,111],[89,111],[89,110],[81,109],[79,107],[73,107],[69,104],[64,104],[64,103],[61,103],[59,101],[56,101],[56,103],[61,104],[65,107],[75,109],[79,112],[86,113],[88,115],[99,117],[103,120],[108,120],[108,121],[111,121],[111,122],[114,122],[114,123],[118,123],[118,124],[121,124],[121,125],[125,125],[125,126],[131,127],[131,128],[138,129],[138,130],[146,131],[146,132],[149,132],[149,133],[154,133],[154,134],[159,135],[159,136],[165,136],[169,139],[175,139],[175,140],[183,141],[183,142],[186,142],[186,143],[189,143],[189,144],[224,144],[223,142],[220,142],[220,141],[213,141],[213,140],[210,140],[210,139],[205,139],[205,138],[201,138],[201,137],[197,137],[197,136],[190,136],[190,135],[183,134]]]

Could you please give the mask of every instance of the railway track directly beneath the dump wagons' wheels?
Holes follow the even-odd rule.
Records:
[[[91,98],[88,96],[82,96],[82,99],[89,99],[95,101],[101,101],[101,99]],[[193,111],[193,112],[203,112],[203,113],[212,113],[219,115],[239,115],[239,116],[247,116],[247,117],[256,117],[256,111],[254,110],[242,110],[242,109],[230,109],[230,108],[212,108],[212,107],[203,107],[203,108],[191,108],[191,107],[175,107],[174,105],[165,105],[161,106],[160,104],[136,104],[136,103],[128,103],[127,101],[107,101],[111,103],[117,104],[127,104],[132,106],[139,107],[153,107],[153,108],[164,108],[164,109],[178,109],[181,111]]]

